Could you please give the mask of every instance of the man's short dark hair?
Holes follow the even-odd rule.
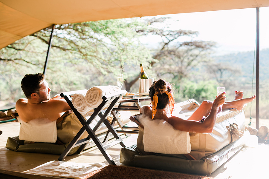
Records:
[[[39,84],[45,78],[43,73],[27,74],[22,78],[22,91],[26,98],[40,89]]]

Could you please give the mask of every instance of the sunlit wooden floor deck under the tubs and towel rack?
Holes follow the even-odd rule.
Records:
[[[57,161],[59,155],[14,152],[5,148],[8,137],[19,135],[20,123],[8,122],[0,124],[0,178],[37,178],[36,175],[23,173],[26,170],[33,169],[49,161]],[[126,146],[136,143],[137,135],[124,137]],[[117,165],[122,165],[120,160],[120,144],[108,149]],[[76,163],[106,163],[105,158],[97,147],[90,148],[80,154],[67,156],[64,161]],[[236,155],[233,155],[226,163],[218,168],[210,177],[216,179],[241,179],[241,178],[269,178],[269,145],[259,144],[257,147],[243,147]],[[41,179],[55,178],[38,176]]]

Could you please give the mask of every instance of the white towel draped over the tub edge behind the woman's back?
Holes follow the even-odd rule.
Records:
[[[174,129],[164,120],[139,116],[139,121],[144,118],[144,151],[162,154],[187,154],[191,152],[189,132]]]

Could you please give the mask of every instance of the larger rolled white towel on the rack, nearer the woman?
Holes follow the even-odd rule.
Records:
[[[85,101],[90,107],[97,108],[102,103],[103,101],[102,97],[104,95],[108,95],[119,91],[121,91],[121,89],[120,87],[117,86],[92,87],[87,91],[85,95]]]

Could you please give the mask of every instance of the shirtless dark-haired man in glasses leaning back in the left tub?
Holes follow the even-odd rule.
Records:
[[[22,121],[48,119],[55,121],[62,113],[71,109],[60,96],[51,98],[51,89],[44,74],[28,74],[22,79],[22,90],[26,98],[16,102],[16,110]]]

